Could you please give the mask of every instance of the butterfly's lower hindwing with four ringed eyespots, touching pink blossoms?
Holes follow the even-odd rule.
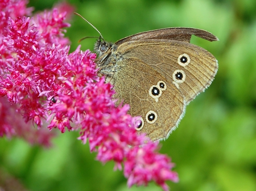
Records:
[[[179,90],[141,59],[124,58],[118,65],[123,67],[111,80],[117,104],[123,101],[130,105],[131,116],[141,116],[137,130],[152,141],[168,137],[185,111]]]

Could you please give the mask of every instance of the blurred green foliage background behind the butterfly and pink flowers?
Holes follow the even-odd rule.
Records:
[[[192,37],[191,43],[217,58],[219,69],[212,85],[188,105],[179,128],[161,142],[160,152],[172,158],[180,179],[168,185],[171,190],[256,190],[255,0],[67,2],[107,41],[166,27],[201,28],[216,35],[220,41],[212,43]],[[30,6],[40,11],[54,3],[34,0]],[[70,22],[72,51],[82,37],[98,36],[79,16]],[[82,41],[82,50],[92,50],[94,41]],[[122,172],[114,172],[113,163],[96,161],[78,136],[60,134],[49,149],[1,138],[0,185],[10,179],[35,191],[128,190]],[[161,189],[151,183],[130,190]]]

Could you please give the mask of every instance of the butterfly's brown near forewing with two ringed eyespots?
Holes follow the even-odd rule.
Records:
[[[212,83],[218,69],[211,53],[182,41],[130,41],[119,46],[118,52],[124,52],[124,58],[136,57],[157,71],[179,89],[186,103]]]

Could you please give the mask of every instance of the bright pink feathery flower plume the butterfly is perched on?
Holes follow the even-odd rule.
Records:
[[[157,152],[158,143],[137,135],[137,118],[127,114],[129,105],[115,107],[112,86],[97,77],[96,55],[89,50],[82,52],[80,46],[68,53],[69,40],[63,33],[63,28],[69,27],[64,22],[67,12],[53,9],[30,19],[24,16],[31,10],[26,9],[26,1],[5,2],[7,7],[24,6],[17,8],[22,9],[18,15],[7,8],[1,12],[0,114],[4,120],[0,136],[26,138],[25,132],[32,132],[28,128],[31,121],[39,128],[37,137],[42,136],[40,143],[45,145],[51,139],[50,134],[40,131],[46,124],[49,130],[57,128],[62,133],[78,130],[79,139],[83,143],[88,140],[90,150],[98,152],[98,160],[113,160],[117,169],[123,165],[129,186],[155,181],[168,190],[166,180],[177,181],[171,171],[173,164]],[[10,116],[19,121],[23,116],[23,124],[27,124],[15,126]],[[144,142],[148,143],[137,146]]]

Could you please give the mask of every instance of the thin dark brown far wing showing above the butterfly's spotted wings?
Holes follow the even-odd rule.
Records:
[[[197,28],[163,28],[153,31],[146,31],[137,33],[135,35],[127,36],[121,40],[118,40],[115,44],[120,45],[128,41],[133,40],[145,40],[145,39],[170,39],[178,41],[187,41],[190,43],[191,36],[195,35],[208,41],[217,41],[218,38],[208,31]]]

